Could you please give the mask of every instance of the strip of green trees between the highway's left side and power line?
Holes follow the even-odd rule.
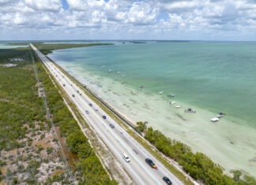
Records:
[[[41,66],[38,66],[41,68]],[[42,69],[39,69],[40,80],[42,80],[47,93],[47,102],[55,125],[59,126],[61,135],[66,137],[66,145],[73,154],[77,154],[79,160],[76,162],[75,175],[79,179],[79,184],[109,184],[115,185],[115,179],[110,179],[107,172],[100,163],[99,158],[94,153],[88,139],[81,132],[77,121],[73,119],[69,109],[64,104],[62,97],[53,87],[51,81],[47,78]],[[47,179],[49,182],[54,179]]]

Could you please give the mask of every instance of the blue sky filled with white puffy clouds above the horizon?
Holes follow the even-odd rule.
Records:
[[[256,41],[256,0],[0,0],[0,40]]]

